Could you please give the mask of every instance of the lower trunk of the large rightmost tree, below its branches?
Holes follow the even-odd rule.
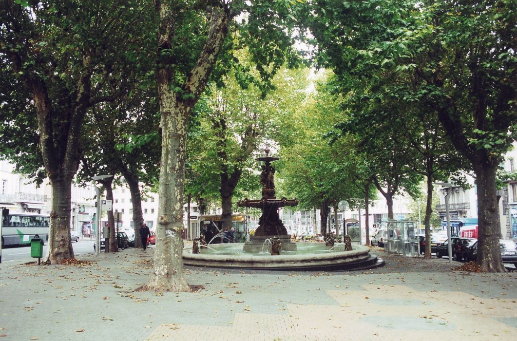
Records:
[[[499,249],[499,208],[495,183],[497,166],[479,164],[474,168],[478,190],[478,263],[485,272],[505,272]]]

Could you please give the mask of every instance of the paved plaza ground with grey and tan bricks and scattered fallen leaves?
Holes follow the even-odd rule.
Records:
[[[90,266],[0,264],[0,340],[515,340],[517,272],[374,249],[362,272],[187,267],[194,293],[134,292],[154,249],[88,255]],[[32,261],[28,258],[26,261]]]

